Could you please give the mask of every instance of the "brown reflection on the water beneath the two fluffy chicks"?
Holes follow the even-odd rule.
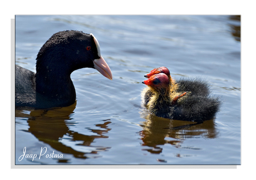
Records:
[[[141,117],[146,121],[142,122],[140,131],[142,146],[147,146],[143,150],[150,153],[161,153],[163,146],[169,143],[177,148],[190,148],[198,150],[193,147],[181,147],[182,142],[188,138],[215,138],[217,133],[213,120],[204,122],[189,122],[164,119],[154,115],[145,114],[141,112]]]

